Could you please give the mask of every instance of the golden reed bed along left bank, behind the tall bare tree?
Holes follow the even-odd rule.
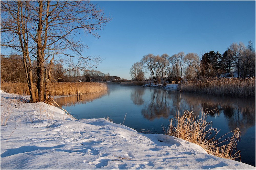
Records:
[[[3,83],[1,89],[7,93],[29,95],[28,86],[26,83]],[[97,82],[63,82],[51,83],[50,95],[76,95],[77,92],[82,94],[99,93],[102,90],[107,90],[108,86],[105,83]]]

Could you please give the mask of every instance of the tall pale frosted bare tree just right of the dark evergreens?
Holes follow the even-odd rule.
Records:
[[[237,74],[238,74],[238,78],[239,78],[239,74],[240,74],[240,62],[241,62],[241,58],[243,56],[243,52],[245,50],[245,46],[242,42],[240,42],[239,44],[237,43],[232,43],[229,47],[228,50],[230,50],[232,52],[232,55],[235,57],[235,64],[236,64],[236,68],[237,68]]]

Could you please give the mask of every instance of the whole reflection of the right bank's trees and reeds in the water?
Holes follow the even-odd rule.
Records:
[[[144,89],[136,89],[136,91],[132,92],[132,101],[143,101],[142,94],[144,92],[142,91]],[[151,98],[144,104],[144,108],[141,110],[143,117],[148,120],[160,117],[174,117],[178,111],[182,115],[186,110],[193,110],[196,115],[199,115],[200,110],[212,110],[208,112],[210,117],[215,118],[223,114],[227,119],[229,130],[232,131],[239,127],[241,135],[246,132],[247,128],[255,125],[255,99],[185,92],[182,92],[180,96],[180,92],[164,89],[150,89],[149,91],[151,92],[151,95],[149,95]],[[143,104],[143,102],[140,104]]]

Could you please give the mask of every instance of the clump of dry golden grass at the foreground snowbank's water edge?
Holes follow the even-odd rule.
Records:
[[[170,125],[166,135],[175,136],[180,139],[184,139],[189,142],[200,145],[208,154],[212,154],[218,157],[234,160],[240,158],[240,151],[233,154],[233,150],[236,150],[237,141],[240,138],[240,131],[238,128],[229,132],[233,133],[231,137],[227,133],[219,139],[215,139],[218,131],[212,128],[212,122],[206,121],[207,112],[201,113],[201,116],[195,116],[195,114],[189,111],[184,112],[184,115],[177,116],[170,119]],[[223,140],[224,138],[224,140]],[[228,144],[222,144],[228,142]]]

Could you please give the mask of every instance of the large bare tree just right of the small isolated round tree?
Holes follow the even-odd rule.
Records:
[[[142,57],[141,63],[143,63],[146,68],[146,73],[152,76],[154,84],[157,84],[159,81],[160,69],[157,67],[157,56],[153,54],[148,54]]]

